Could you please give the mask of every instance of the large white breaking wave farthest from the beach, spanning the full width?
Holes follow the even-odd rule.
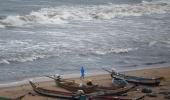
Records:
[[[63,24],[70,21],[107,20],[115,17],[142,16],[169,13],[169,2],[150,1],[140,4],[107,4],[89,6],[59,6],[42,8],[28,15],[6,16],[0,19],[0,28],[35,24]]]

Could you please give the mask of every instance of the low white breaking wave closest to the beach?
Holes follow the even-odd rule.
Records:
[[[41,51],[31,51],[31,53],[26,52],[17,52],[14,54],[6,54],[5,56],[0,56],[0,64],[10,64],[17,62],[28,62],[34,61],[37,59],[49,58],[49,57],[57,57],[63,55],[107,55],[111,53],[120,54],[120,53],[128,53],[129,51],[137,50],[137,48],[112,48],[112,49],[54,49],[51,48],[49,50]]]

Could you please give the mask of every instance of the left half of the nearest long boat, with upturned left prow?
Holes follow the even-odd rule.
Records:
[[[41,87],[37,87],[31,81],[29,81],[29,83],[32,86],[33,90],[40,95],[55,97],[60,99],[79,100],[79,96],[75,93],[44,89]]]

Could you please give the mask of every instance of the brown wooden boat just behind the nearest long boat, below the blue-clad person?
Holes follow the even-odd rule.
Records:
[[[77,92],[78,90],[83,90],[85,93],[92,93],[96,91],[97,85],[83,85],[76,83],[75,81],[62,80],[60,78],[54,78],[52,76],[46,76],[55,80],[56,85],[62,87],[66,90]]]

